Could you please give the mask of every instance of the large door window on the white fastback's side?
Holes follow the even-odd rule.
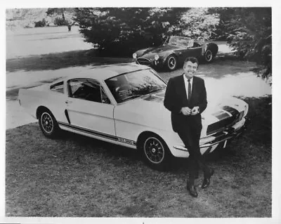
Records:
[[[71,79],[68,81],[71,98],[79,98],[97,103],[110,103],[98,81],[94,79]]]

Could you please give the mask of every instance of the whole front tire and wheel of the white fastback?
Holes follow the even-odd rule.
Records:
[[[148,164],[150,168],[158,171],[170,169],[173,155],[162,138],[154,134],[147,135],[141,139],[139,146],[141,156],[145,164]]]

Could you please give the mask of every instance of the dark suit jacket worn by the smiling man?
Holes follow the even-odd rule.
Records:
[[[178,132],[181,126],[188,124],[202,129],[201,113],[207,107],[207,93],[204,79],[193,77],[191,99],[188,100],[183,75],[169,79],[164,98],[164,106],[171,111],[171,124],[173,130]],[[200,113],[185,116],[181,113],[181,107],[199,106]]]

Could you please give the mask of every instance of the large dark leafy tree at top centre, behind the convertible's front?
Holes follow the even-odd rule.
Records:
[[[85,41],[103,53],[131,55],[136,49],[162,44],[186,8],[77,8],[75,21]]]

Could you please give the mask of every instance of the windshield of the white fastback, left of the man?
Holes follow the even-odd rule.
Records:
[[[117,103],[156,93],[166,88],[166,84],[152,70],[140,70],[121,74],[105,80]]]

